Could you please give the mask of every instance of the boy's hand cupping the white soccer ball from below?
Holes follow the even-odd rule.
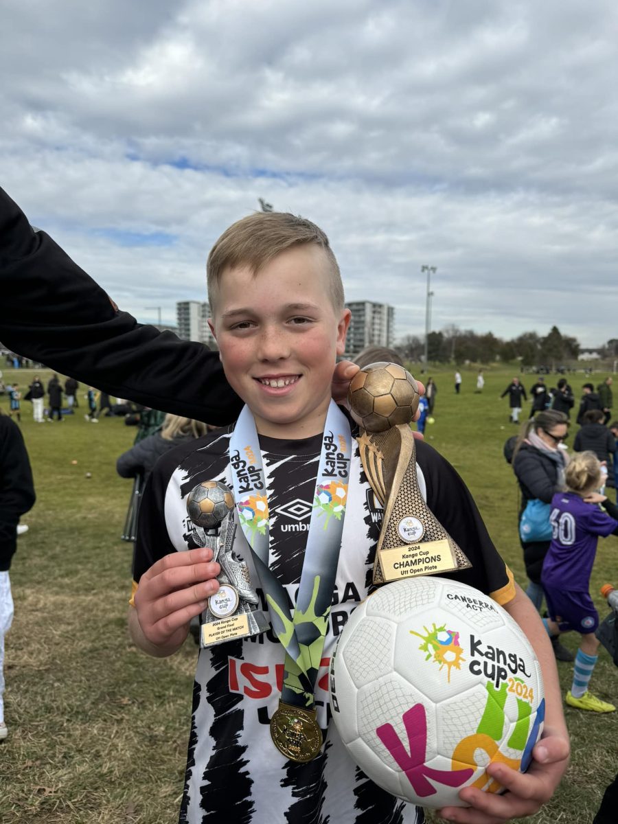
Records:
[[[438,810],[438,815],[459,824],[503,824],[512,818],[534,815],[550,800],[568,765],[566,733],[545,727],[532,750],[532,763],[526,773],[511,770],[506,764],[494,763],[487,768],[506,793],[496,795],[466,787],[459,797],[470,807],[445,807]]]

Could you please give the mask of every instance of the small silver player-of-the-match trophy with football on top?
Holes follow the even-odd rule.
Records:
[[[204,480],[191,489],[187,513],[194,524],[194,540],[213,550],[213,560],[221,566],[218,592],[208,598],[202,613],[200,646],[213,647],[268,630],[268,620],[257,609],[260,599],[251,588],[246,561],[235,558],[232,550],[236,532],[232,490],[220,481]]]

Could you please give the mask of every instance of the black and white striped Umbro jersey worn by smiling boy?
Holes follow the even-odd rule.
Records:
[[[269,566],[295,602],[302,572],[321,435],[302,441],[260,436],[269,483]],[[194,548],[186,496],[203,480],[232,487],[229,433],[224,430],[168,452],[143,496],[133,576],[170,552]],[[353,442],[353,447],[355,447]],[[433,513],[471,560],[453,574],[504,603],[513,579],[489,539],[471,496],[456,471],[424,442],[417,442],[421,489]],[[353,608],[371,592],[372,564],[382,525],[353,448],[346,515],[335,590],[316,683],[321,753],[307,764],[287,761],[270,739],[270,717],[279,705],[284,651],[272,631],[231,640],[199,653],[180,824],[290,822],[290,824],[420,824],[423,812],[377,787],[353,763],[330,723],[327,673],[330,655]],[[253,587],[268,616],[264,593],[241,528],[235,552],[247,560]]]

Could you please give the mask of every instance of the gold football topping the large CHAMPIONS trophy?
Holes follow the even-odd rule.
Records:
[[[419,387],[402,366],[379,361],[354,375],[348,401],[357,424],[368,432],[385,432],[410,424],[419,405]]]

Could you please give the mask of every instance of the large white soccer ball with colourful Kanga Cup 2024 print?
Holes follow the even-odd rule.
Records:
[[[541,735],[541,665],[499,604],[447,578],[389,583],[349,617],[330,665],[330,704],[350,756],[389,793],[463,807],[463,787],[502,788]]]

